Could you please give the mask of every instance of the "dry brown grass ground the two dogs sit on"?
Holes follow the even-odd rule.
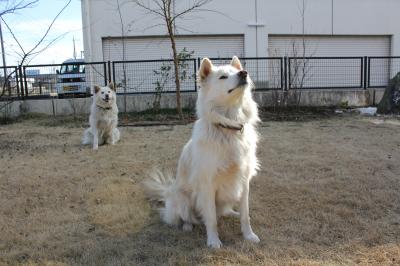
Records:
[[[122,127],[98,152],[81,126],[0,126],[0,265],[399,265],[400,121],[360,116],[260,125],[250,215],[205,228],[160,222],[140,182],[174,170],[192,125]]]

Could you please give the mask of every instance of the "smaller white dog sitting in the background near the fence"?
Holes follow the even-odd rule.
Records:
[[[99,145],[114,145],[120,138],[118,125],[118,107],[113,83],[106,87],[94,87],[93,103],[90,109],[90,127],[83,133],[82,144],[93,144],[97,150]]]

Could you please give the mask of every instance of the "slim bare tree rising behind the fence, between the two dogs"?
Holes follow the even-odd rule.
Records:
[[[174,59],[174,71],[175,71],[175,86],[176,86],[176,109],[180,116],[182,115],[182,107],[181,107],[181,86],[179,80],[179,56],[176,49],[176,40],[175,40],[175,32],[176,32],[176,22],[177,19],[181,19],[184,16],[198,11],[205,11],[202,7],[212,0],[193,0],[189,7],[176,11],[175,1],[174,0],[152,0],[145,1],[142,0],[133,0],[139,7],[146,10],[150,14],[153,14],[163,20],[163,25],[166,27],[168,32],[168,37],[171,41],[171,49],[172,55]]]

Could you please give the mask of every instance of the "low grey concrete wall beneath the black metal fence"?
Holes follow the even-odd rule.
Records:
[[[349,106],[362,107],[378,103],[383,95],[384,89],[375,90],[304,90],[301,95],[301,106],[338,106],[346,103]],[[255,92],[254,99],[260,107],[274,105],[274,99],[280,97],[282,91]],[[373,98],[375,95],[375,99]],[[196,93],[183,93],[182,106],[194,108],[196,105]],[[154,95],[127,95],[126,105],[122,95],[118,97],[118,108],[120,112],[139,112],[152,108]],[[23,113],[40,113],[47,115],[72,115],[89,114],[91,98],[79,99],[46,99],[46,100],[25,100],[13,102],[8,112],[11,117],[17,117]],[[175,94],[164,94],[161,101],[162,108],[176,107]],[[54,104],[54,109],[53,109]],[[1,105],[1,104],[0,104]],[[125,109],[126,106],[126,109]],[[54,111],[53,111],[54,110]],[[0,111],[4,115],[4,109]]]

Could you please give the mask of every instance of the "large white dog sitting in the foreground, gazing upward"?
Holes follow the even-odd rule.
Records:
[[[217,217],[229,214],[240,216],[245,239],[259,242],[249,218],[249,183],[258,169],[255,125],[260,121],[253,83],[236,56],[219,67],[203,59],[198,81],[198,120],[176,178],[154,171],[145,180],[147,192],[165,202],[161,218],[167,224],[183,223],[183,230],[191,231],[202,218],[210,247],[221,247]]]

